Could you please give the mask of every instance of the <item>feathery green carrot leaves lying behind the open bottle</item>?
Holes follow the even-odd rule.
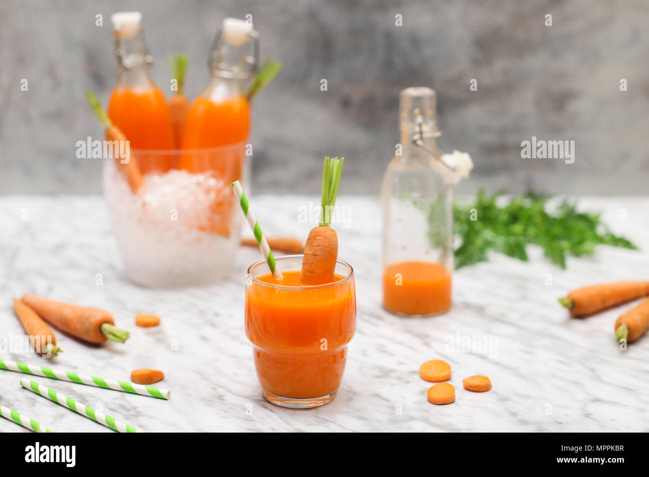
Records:
[[[489,251],[526,262],[530,243],[543,248],[546,258],[564,269],[568,255],[592,255],[596,245],[637,250],[631,241],[616,236],[602,224],[600,214],[578,212],[567,200],[548,212],[550,196],[534,192],[512,197],[507,204],[498,206],[498,197],[504,193],[487,195],[480,190],[474,202],[454,205],[455,234],[461,239],[455,251],[456,268],[485,262]],[[429,225],[430,230],[435,230],[430,218]]]

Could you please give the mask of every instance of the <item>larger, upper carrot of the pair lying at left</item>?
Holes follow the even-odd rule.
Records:
[[[47,323],[89,343],[103,343],[106,339],[124,343],[129,338],[129,332],[116,328],[113,315],[101,308],[85,308],[34,295],[23,295],[22,300]]]

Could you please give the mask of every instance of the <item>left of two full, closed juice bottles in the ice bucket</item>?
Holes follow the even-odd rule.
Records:
[[[138,150],[143,174],[166,172],[173,154],[154,151],[174,147],[171,114],[164,94],[149,72],[149,55],[140,12],[119,12],[110,17],[115,36],[117,83],[108,101],[108,117],[124,132],[130,148]],[[151,154],[147,154],[151,151]]]

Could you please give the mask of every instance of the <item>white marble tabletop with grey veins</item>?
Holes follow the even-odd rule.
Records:
[[[310,199],[257,196],[252,203],[266,234],[306,236],[310,226],[297,223],[297,208]],[[236,269],[218,285],[133,286],[123,278],[99,196],[0,196],[0,332],[21,336],[12,296],[22,293],[112,311],[117,324],[131,332],[126,345],[89,347],[58,333],[64,353],[49,365],[123,380],[132,369],[156,367],[165,372],[171,400],[37,380],[147,432],[649,430],[649,336],[626,351],[613,339],[613,322],[632,304],[578,320],[569,319],[556,302],[571,287],[647,278],[649,198],[580,201],[584,208],[603,210],[613,230],[643,251],[600,247],[594,258],[570,259],[567,271],[546,262],[539,250],[530,251],[530,263],[495,255],[489,263],[459,270],[452,310],[428,319],[402,319],[380,307],[376,199],[343,196],[338,204],[347,204],[351,214],[351,227],[339,229],[339,256],[356,271],[358,327],[339,394],[321,408],[285,410],[261,395],[243,330],[244,273],[258,252],[242,249]],[[21,220],[25,214],[27,220]],[[102,286],[95,284],[97,273]],[[138,312],[158,313],[162,324],[138,328],[133,324]],[[451,349],[457,334],[486,337],[495,348]],[[45,364],[34,354],[11,351],[3,349],[0,356]],[[429,384],[418,369],[435,358],[452,365],[456,402],[450,406],[426,402]],[[487,374],[493,390],[465,391],[461,380],[471,374]],[[0,371],[5,406],[55,431],[112,432],[21,389],[20,378]],[[21,430],[0,419],[0,431]]]

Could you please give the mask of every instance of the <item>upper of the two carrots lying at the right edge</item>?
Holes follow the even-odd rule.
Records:
[[[570,315],[583,317],[649,295],[649,282],[611,282],[577,288],[559,303]]]

